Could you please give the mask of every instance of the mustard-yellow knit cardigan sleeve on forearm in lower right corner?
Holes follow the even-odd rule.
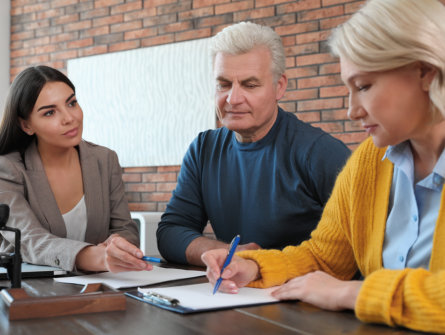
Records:
[[[444,333],[444,282],[444,270],[377,270],[363,282],[355,313],[365,322]]]

